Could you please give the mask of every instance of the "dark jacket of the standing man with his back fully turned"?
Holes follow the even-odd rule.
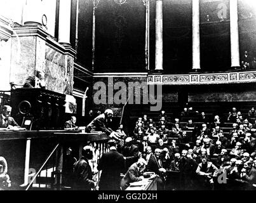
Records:
[[[125,159],[116,150],[102,155],[98,162],[98,170],[102,170],[99,190],[120,190],[120,173],[125,166]]]

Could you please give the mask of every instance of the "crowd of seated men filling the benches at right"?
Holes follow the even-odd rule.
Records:
[[[190,116],[200,122],[194,123]],[[182,117],[188,122],[181,123]],[[228,117],[215,115],[213,120],[192,108],[184,108],[173,120],[161,111],[155,120],[138,117],[130,136],[138,147],[138,158],[148,164],[160,150],[166,190],[252,190],[256,184],[255,117],[254,108],[245,116],[234,107]]]

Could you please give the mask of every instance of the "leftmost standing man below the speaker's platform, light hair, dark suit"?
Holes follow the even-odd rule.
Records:
[[[85,146],[82,150],[82,157],[74,165],[73,185],[74,190],[91,190],[97,186],[92,179],[91,166],[88,160],[93,159],[93,148]]]

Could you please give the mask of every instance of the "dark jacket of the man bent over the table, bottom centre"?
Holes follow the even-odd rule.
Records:
[[[129,187],[130,183],[142,180],[140,177],[140,173],[138,172],[137,163],[131,165],[128,169],[125,177],[121,180],[121,188],[125,190]]]

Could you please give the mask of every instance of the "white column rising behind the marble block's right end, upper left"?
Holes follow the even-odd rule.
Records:
[[[70,45],[71,0],[60,0],[58,18],[58,43]]]

